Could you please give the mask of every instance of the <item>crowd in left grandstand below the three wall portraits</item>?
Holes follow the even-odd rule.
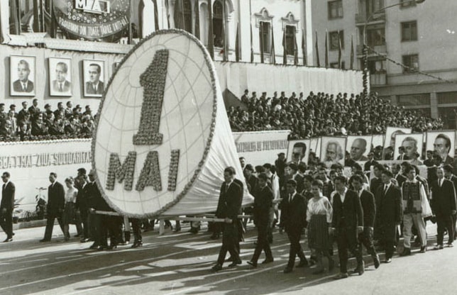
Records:
[[[53,140],[65,138],[92,138],[94,116],[90,106],[84,111],[79,104],[73,107],[67,101],[66,107],[62,102],[53,110],[50,104],[44,110],[38,107],[38,99],[33,99],[32,106],[27,101],[22,102],[19,111],[15,104],[6,110],[5,104],[0,104],[0,140]]]

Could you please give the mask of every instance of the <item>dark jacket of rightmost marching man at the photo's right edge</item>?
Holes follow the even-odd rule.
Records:
[[[451,180],[444,179],[441,187],[438,180],[434,181],[431,191],[431,208],[435,215],[449,216],[456,210],[456,189]]]

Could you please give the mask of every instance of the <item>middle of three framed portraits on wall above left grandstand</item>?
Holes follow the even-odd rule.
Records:
[[[72,96],[72,59],[49,57],[50,96]]]

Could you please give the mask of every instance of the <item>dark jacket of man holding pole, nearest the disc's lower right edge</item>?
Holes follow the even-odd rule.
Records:
[[[226,182],[222,183],[219,203],[217,205],[216,216],[218,218],[230,218],[232,222],[238,220],[243,203],[243,187],[233,180],[226,190]]]

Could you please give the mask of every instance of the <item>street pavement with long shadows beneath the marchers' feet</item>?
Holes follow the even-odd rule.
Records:
[[[241,243],[243,265],[228,268],[226,263],[220,272],[211,272],[221,239],[209,239],[206,228],[198,234],[188,229],[185,223],[180,233],[167,230],[160,236],[157,230],[149,231],[143,233],[143,247],[124,245],[109,251],[89,250],[91,243],[79,243],[78,238],[65,243],[58,226],[49,243],[38,242],[44,227],[16,230],[13,242],[0,243],[0,294],[457,294],[457,247],[431,250],[436,242],[432,224],[427,227],[426,253],[413,249],[413,255],[396,255],[378,269],[365,255],[365,274],[338,281],[332,279],[338,267],[320,275],[309,267],[283,274],[289,244],[287,235],[277,230],[271,245],[275,262],[253,269],[246,264],[256,237],[252,224]],[[74,235],[73,226],[71,230]],[[309,257],[306,240],[302,246]],[[354,259],[349,267],[356,267]]]

